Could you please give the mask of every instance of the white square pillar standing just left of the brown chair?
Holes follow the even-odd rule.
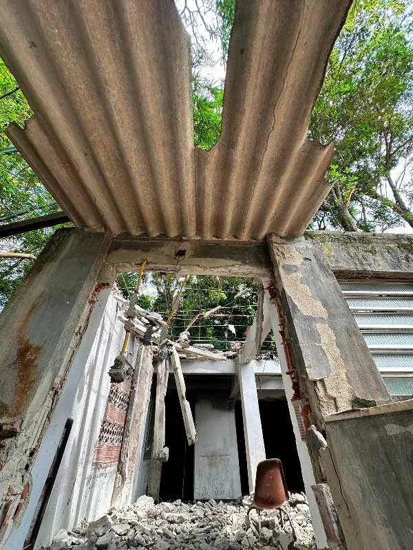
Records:
[[[253,362],[237,364],[237,372],[240,382],[242,421],[244,423],[248,485],[250,492],[252,492],[255,487],[257,465],[266,459]]]

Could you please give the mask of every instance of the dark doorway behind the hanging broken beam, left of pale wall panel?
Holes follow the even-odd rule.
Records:
[[[187,399],[194,414],[188,393]],[[188,445],[178,392],[173,389],[165,396],[165,445],[169,459],[162,465],[160,500],[193,500],[193,445]]]

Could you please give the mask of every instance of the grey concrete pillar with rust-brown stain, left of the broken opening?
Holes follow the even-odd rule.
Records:
[[[30,500],[32,465],[101,289],[109,243],[105,233],[56,231],[1,315],[0,542]]]

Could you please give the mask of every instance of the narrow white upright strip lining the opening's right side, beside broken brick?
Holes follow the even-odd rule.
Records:
[[[277,347],[278,360],[281,366],[282,382],[284,384],[284,391],[286,393],[290,419],[291,423],[293,424],[295,444],[297,445],[297,453],[299,457],[299,463],[301,465],[301,475],[303,476],[304,488],[306,489],[306,495],[308,498],[308,507],[310,508],[311,520],[313,522],[315,542],[317,542],[317,548],[326,548],[328,547],[326,533],[324,531],[323,522],[321,521],[319,508],[315,500],[313,489],[311,489],[311,486],[315,485],[316,483],[313,472],[313,464],[311,463],[310,454],[308,454],[306,441],[304,441],[301,437],[297,415],[291,401],[291,399],[293,399],[293,384],[291,383],[290,376],[287,374],[288,364],[286,360],[284,346],[282,344],[282,338],[279,333],[279,319],[277,309],[274,305],[270,303],[268,292],[266,292],[266,296],[264,299],[264,316],[271,319],[271,325],[273,326],[275,346]]]

